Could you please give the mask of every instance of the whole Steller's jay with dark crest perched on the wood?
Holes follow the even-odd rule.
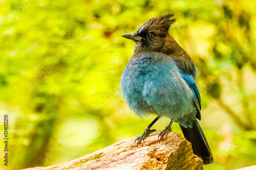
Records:
[[[213,161],[212,154],[197,118],[201,119],[201,98],[195,83],[198,70],[183,48],[169,35],[176,19],[173,14],[151,18],[135,33],[122,37],[135,42],[134,55],[127,63],[120,89],[129,108],[139,117],[156,114],[154,121],[135,142],[138,144],[154,130],[150,128],[166,116],[170,124],[158,136],[159,142],[180,125],[185,138],[191,142],[194,154],[204,164]]]

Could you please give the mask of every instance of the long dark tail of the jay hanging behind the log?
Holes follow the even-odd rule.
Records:
[[[185,138],[191,142],[194,154],[202,158],[204,164],[211,164],[214,159],[212,158],[204,132],[197,120],[195,120],[192,128],[184,128],[181,125],[180,127]]]

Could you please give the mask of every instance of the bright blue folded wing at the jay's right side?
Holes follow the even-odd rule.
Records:
[[[193,78],[192,75],[187,75],[184,72],[181,71],[182,78],[185,80],[185,82],[188,84],[189,88],[193,91],[194,96],[193,96],[193,102],[198,108],[198,114],[197,118],[201,119],[200,111],[201,111],[201,96],[198,91],[195,79]]]

